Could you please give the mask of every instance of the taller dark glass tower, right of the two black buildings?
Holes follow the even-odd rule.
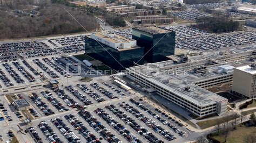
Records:
[[[163,28],[149,26],[132,29],[132,39],[137,45],[144,47],[144,60],[159,62],[170,60],[166,56],[174,55],[175,32]]]

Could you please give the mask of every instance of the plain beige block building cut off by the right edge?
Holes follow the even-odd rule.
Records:
[[[247,98],[256,96],[256,65],[242,66],[234,69],[232,91]]]

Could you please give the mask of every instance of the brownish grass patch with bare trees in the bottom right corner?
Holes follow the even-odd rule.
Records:
[[[228,143],[237,143],[237,142],[244,142],[244,136],[246,134],[256,134],[256,128],[255,127],[246,127],[246,126],[238,126],[236,130],[230,131],[227,135],[227,141]],[[225,141],[224,135],[215,135],[217,133],[213,133],[213,136],[211,138],[218,140],[220,142]]]

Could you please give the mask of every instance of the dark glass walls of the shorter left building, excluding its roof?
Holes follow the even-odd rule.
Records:
[[[114,49],[102,43],[98,43],[96,40],[90,37],[85,37],[85,54],[92,58],[102,61],[105,65],[116,69],[123,70],[125,68],[134,66],[140,58],[143,57],[144,51],[141,47],[131,47],[124,49]],[[119,64],[120,63],[120,64]],[[143,64],[143,60],[138,63]]]

